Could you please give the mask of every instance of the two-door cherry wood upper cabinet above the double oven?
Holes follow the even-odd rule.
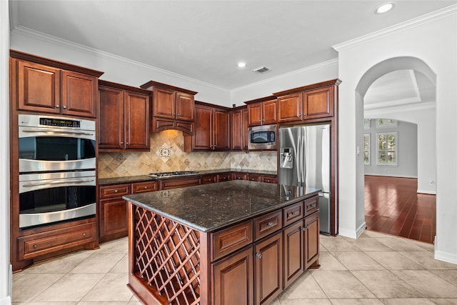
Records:
[[[18,110],[96,118],[103,72],[10,51],[11,85]]]

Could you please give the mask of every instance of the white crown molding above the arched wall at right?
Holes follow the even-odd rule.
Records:
[[[366,34],[355,39],[351,39],[341,44],[336,44],[332,46],[333,49],[336,51],[341,51],[344,49],[351,48],[352,46],[356,46],[358,44],[363,44],[366,41],[372,41],[376,39],[380,39],[385,36],[389,36],[400,31],[405,31],[407,29],[412,29],[416,26],[421,26],[422,24],[426,24],[431,21],[435,21],[447,16],[451,16],[453,14],[457,14],[457,4],[453,4],[451,6],[447,6],[443,9],[438,9],[438,11],[433,11],[429,14],[425,14],[423,16],[416,17],[414,19],[410,19],[408,21],[401,22],[400,24],[396,24],[393,26],[389,26],[385,29],[381,29],[379,31],[374,31],[371,34]]]

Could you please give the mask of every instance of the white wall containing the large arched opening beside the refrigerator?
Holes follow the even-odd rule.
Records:
[[[399,56],[425,62],[436,74],[436,259],[457,264],[457,6],[336,46],[340,85],[340,234],[363,231],[361,146],[363,96],[358,82],[368,69]],[[343,106],[344,105],[344,106]]]

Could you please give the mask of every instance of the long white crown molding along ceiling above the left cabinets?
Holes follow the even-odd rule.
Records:
[[[49,35],[49,34],[44,34],[43,32],[35,31],[33,29],[29,29],[29,28],[26,28],[24,26],[15,26],[11,30],[11,32],[14,33],[14,34],[30,37],[32,39],[38,39],[40,41],[44,41],[44,42],[47,42],[47,43],[56,44],[58,46],[63,46],[65,48],[76,49],[77,51],[81,51],[81,52],[83,52],[85,54],[89,54],[89,55],[92,55],[92,56],[99,56],[101,58],[107,58],[107,59],[111,59],[111,60],[114,60],[114,61],[119,61],[119,62],[123,62],[123,63],[126,63],[126,64],[131,64],[131,65],[134,65],[134,66],[139,66],[141,68],[149,69],[149,70],[152,70],[152,71],[156,71],[156,72],[159,72],[161,74],[166,74],[166,75],[173,76],[173,77],[176,77],[176,78],[179,78],[179,79],[184,79],[186,81],[192,81],[194,83],[198,83],[198,84],[201,84],[201,85],[204,85],[204,86],[209,86],[211,88],[218,89],[218,90],[221,90],[221,91],[230,92],[230,90],[228,90],[226,88],[223,88],[221,86],[216,86],[214,84],[206,83],[205,81],[200,81],[199,79],[193,79],[191,77],[184,76],[184,75],[181,75],[181,74],[177,74],[177,73],[174,73],[174,72],[171,72],[171,71],[167,71],[165,69],[161,69],[161,68],[158,68],[156,66],[151,66],[149,64],[143,64],[143,63],[141,63],[139,61],[134,61],[132,59],[127,59],[127,58],[125,58],[123,56],[111,54],[111,53],[106,52],[106,51],[101,51],[99,49],[91,48],[89,46],[84,46],[83,44],[77,44],[76,42],[69,41],[69,40],[66,40],[66,39],[61,39],[61,38],[56,37],[56,36],[52,36],[52,35]]]

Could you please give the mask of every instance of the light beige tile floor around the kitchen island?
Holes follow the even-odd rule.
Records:
[[[35,264],[13,275],[13,304],[141,304],[126,286],[127,256],[125,238]],[[319,262],[271,304],[457,304],[457,264],[433,259],[431,244],[321,236]]]

